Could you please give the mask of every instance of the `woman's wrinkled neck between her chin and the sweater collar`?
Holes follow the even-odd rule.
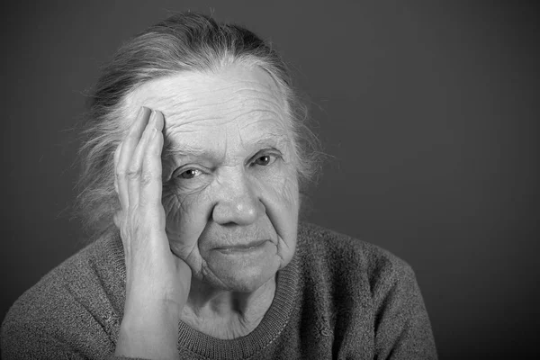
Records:
[[[265,316],[275,294],[275,276],[251,293],[216,289],[192,279],[181,319],[214,338],[246,336]]]

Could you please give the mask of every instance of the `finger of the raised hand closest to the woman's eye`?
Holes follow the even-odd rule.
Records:
[[[161,205],[163,181],[161,178],[163,166],[161,152],[163,149],[163,113],[155,111],[152,121],[151,134],[149,134],[148,148],[142,158],[142,178],[139,202],[144,204]]]

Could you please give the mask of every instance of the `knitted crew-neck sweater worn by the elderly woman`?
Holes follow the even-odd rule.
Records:
[[[115,359],[125,301],[118,235],[45,275],[2,324],[2,358]],[[181,359],[436,359],[415,275],[380,247],[300,223],[274,302],[242,338],[211,338],[180,322]]]

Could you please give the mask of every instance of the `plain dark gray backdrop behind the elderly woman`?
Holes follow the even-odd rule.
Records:
[[[271,39],[329,158],[312,222],[416,270],[441,359],[535,350],[538,25],[533,2],[20,2],[2,11],[5,311],[83,246],[74,198],[85,90],[167,11]],[[5,4],[3,6],[6,6]]]

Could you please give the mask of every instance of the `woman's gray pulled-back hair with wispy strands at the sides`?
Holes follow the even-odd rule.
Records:
[[[113,154],[127,131],[122,121],[127,95],[159,77],[218,71],[232,62],[266,70],[283,94],[304,196],[320,170],[320,144],[307,126],[307,108],[282,58],[269,42],[242,27],[217,23],[203,14],[175,14],[124,43],[103,68],[89,98],[78,154],[82,174],[76,214],[91,238],[114,229],[113,214],[121,207],[114,190]]]

